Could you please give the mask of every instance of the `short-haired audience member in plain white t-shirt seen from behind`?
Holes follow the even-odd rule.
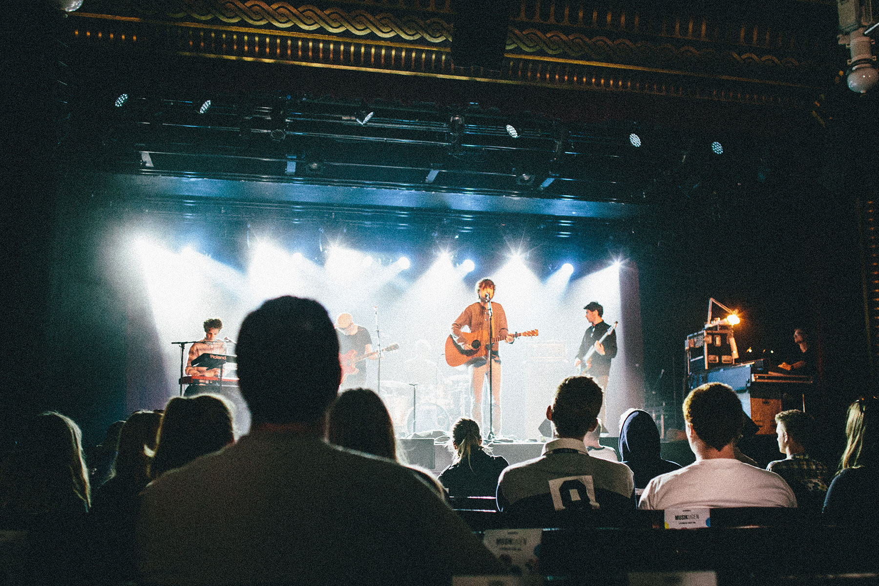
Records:
[[[781,476],[736,459],[745,412],[730,386],[711,382],[694,388],[684,400],[684,420],[696,461],[651,480],[641,509],[796,506]]]

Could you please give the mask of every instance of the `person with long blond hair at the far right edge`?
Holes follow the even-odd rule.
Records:
[[[879,399],[867,397],[848,406],[846,450],[830,483],[824,512],[847,525],[879,524]]]

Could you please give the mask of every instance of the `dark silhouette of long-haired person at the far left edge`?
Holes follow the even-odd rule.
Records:
[[[4,555],[4,583],[86,583],[90,503],[79,427],[54,411],[33,417],[0,465],[0,530],[25,536],[15,555]]]

